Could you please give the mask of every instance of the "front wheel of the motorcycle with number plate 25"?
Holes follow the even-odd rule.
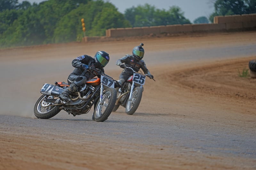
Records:
[[[128,115],[134,114],[140,105],[140,100],[142,98],[142,89],[140,87],[135,87],[132,92],[132,100],[127,101],[125,112]]]

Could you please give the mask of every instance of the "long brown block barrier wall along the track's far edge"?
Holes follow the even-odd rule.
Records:
[[[213,24],[184,24],[133,28],[111,28],[107,37],[141,36],[162,33],[218,32],[230,30],[256,30],[256,14],[227,15],[214,17]]]

